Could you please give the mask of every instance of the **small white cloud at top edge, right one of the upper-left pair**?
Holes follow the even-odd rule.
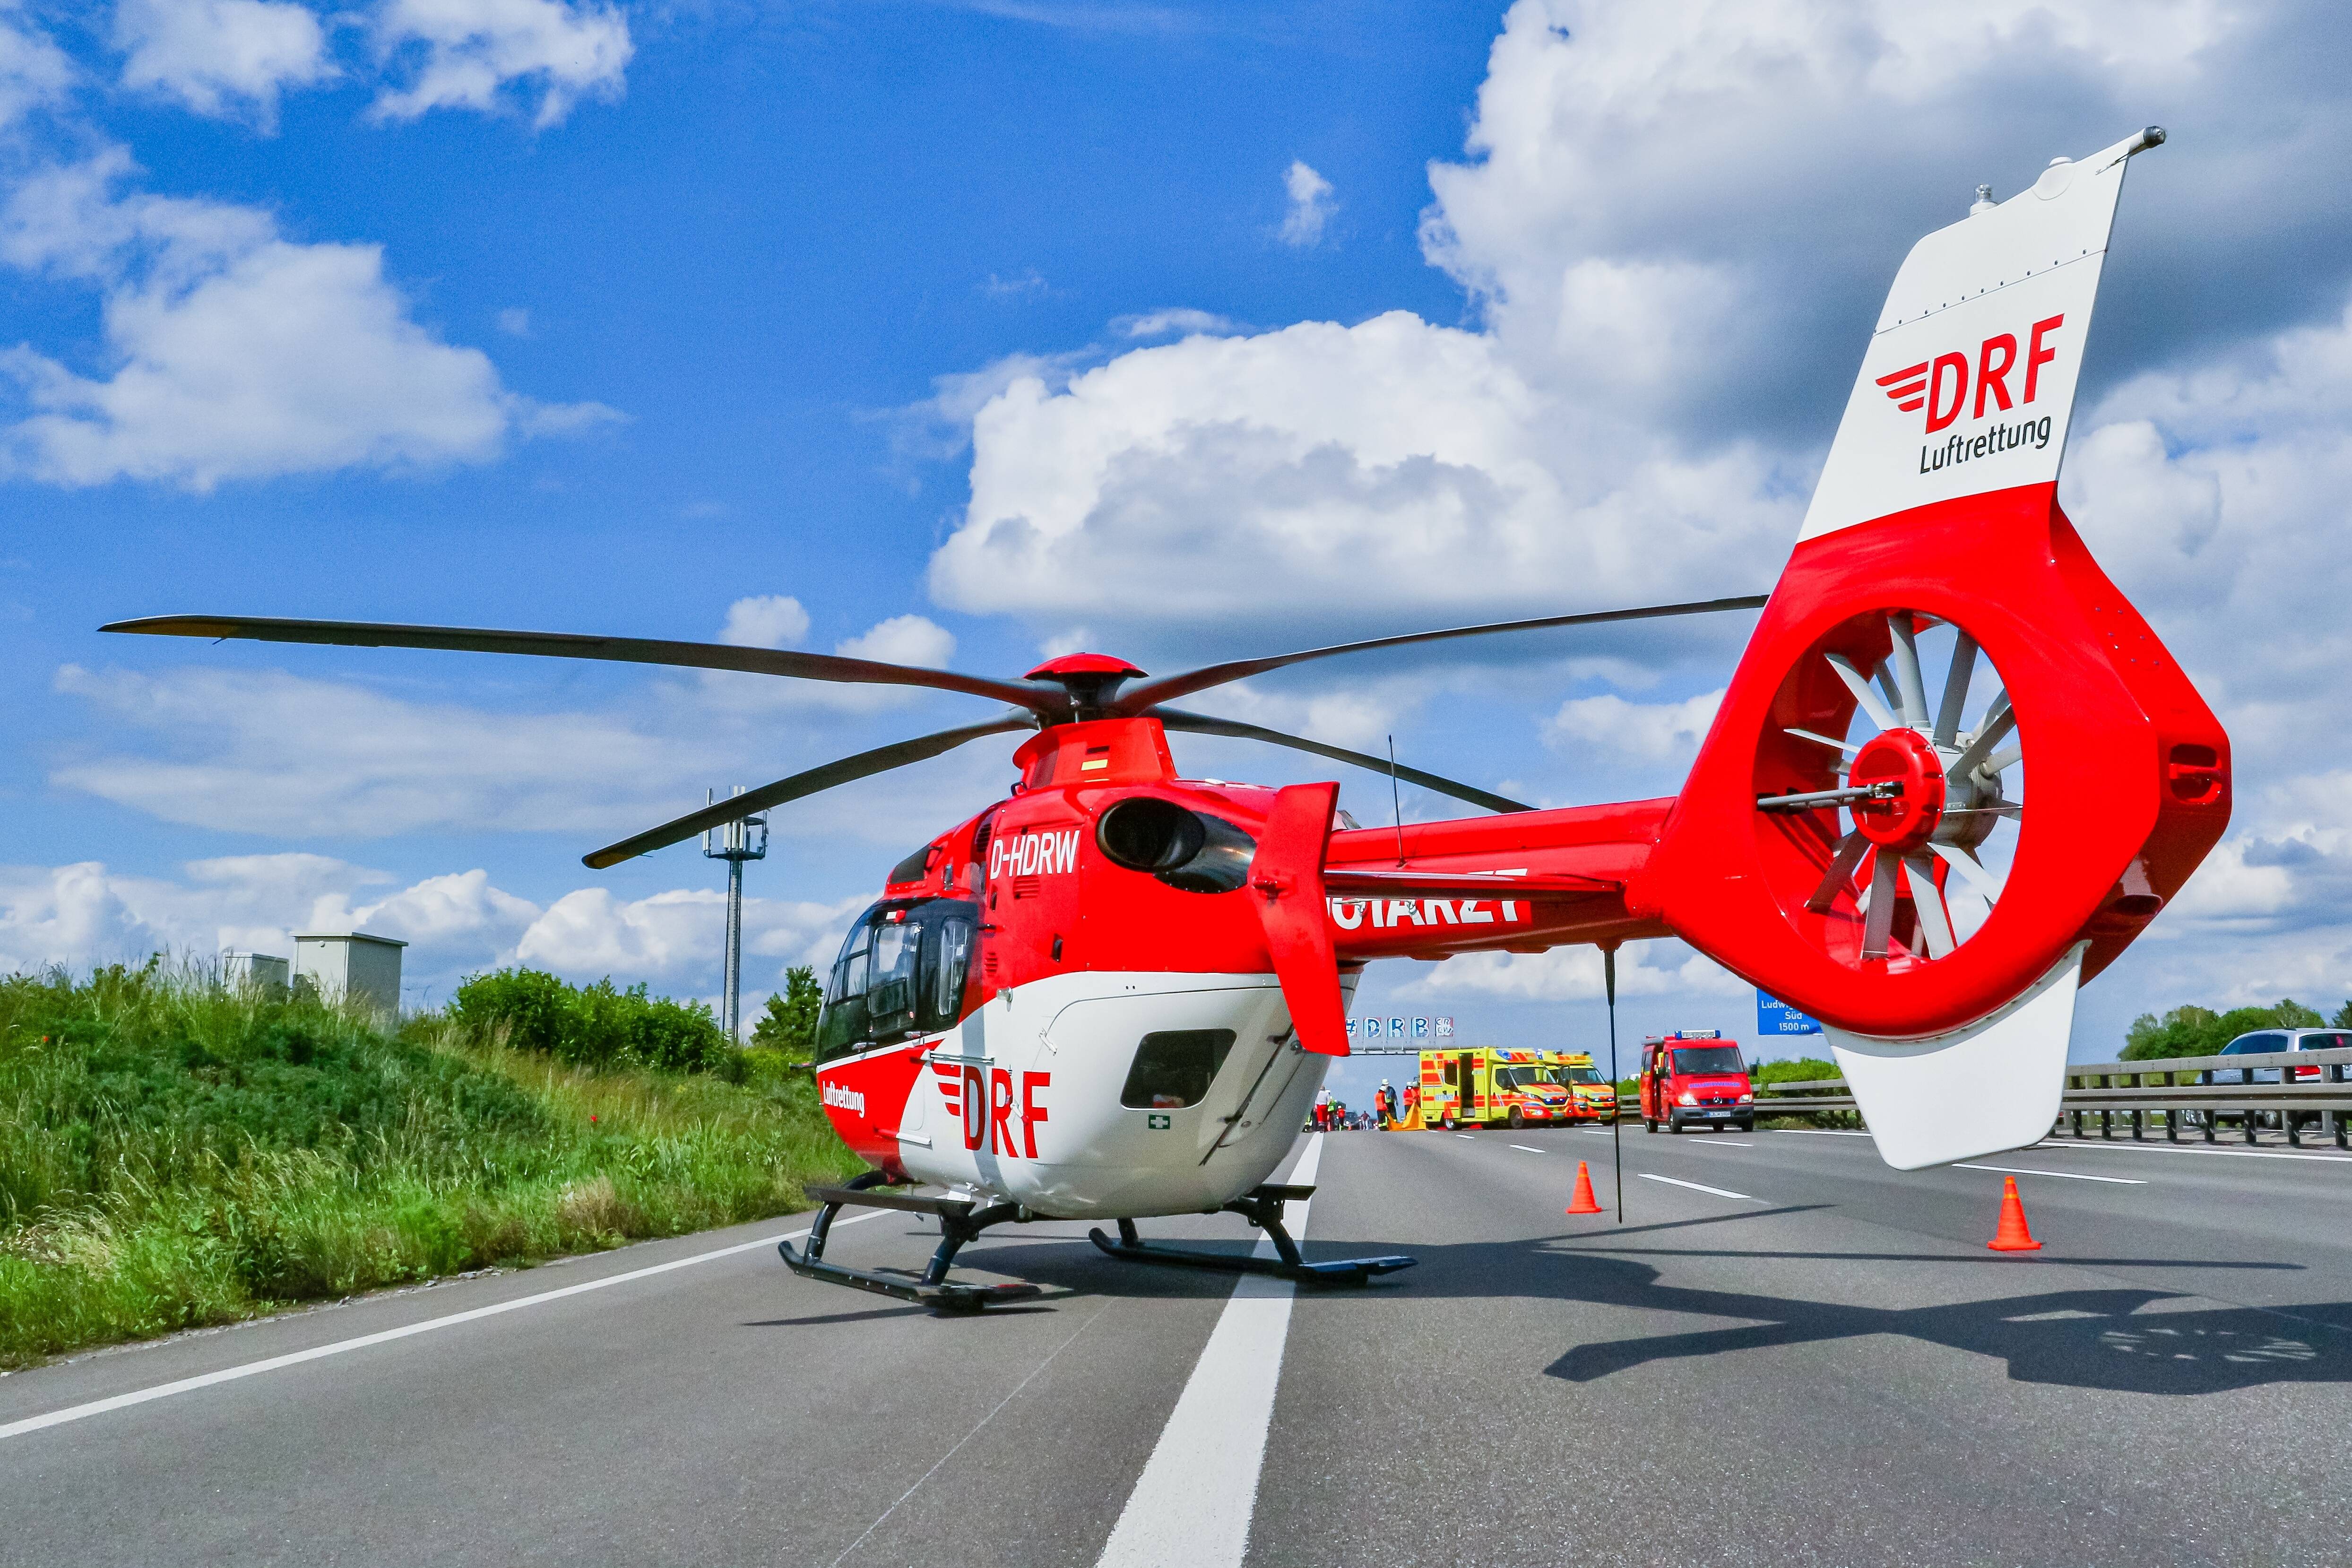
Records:
[[[409,73],[376,96],[379,120],[496,110],[520,85],[539,92],[534,125],[557,125],[583,96],[621,96],[635,54],[619,9],[567,0],[386,0],[369,26],[388,66]]]

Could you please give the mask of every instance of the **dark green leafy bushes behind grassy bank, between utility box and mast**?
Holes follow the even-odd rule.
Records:
[[[743,1063],[701,1001],[614,990],[612,978],[567,985],[536,969],[501,969],[456,987],[449,1016],[485,1039],[583,1067],[715,1072],[743,1081]]]

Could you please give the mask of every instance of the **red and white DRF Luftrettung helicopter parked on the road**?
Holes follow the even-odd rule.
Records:
[[[2117,193],[2150,127],[2056,160],[1919,240],[1863,355],[1797,548],[1766,599],[1512,621],[1148,679],[1073,654],[1023,679],[823,654],[550,632],[165,616],[106,630],[614,658],[934,686],[1000,717],[901,741],[588,856],[1035,731],[1007,799],[901,860],[833,966],[816,1081],[873,1171],[818,1197],[804,1272],[941,1307],[1035,1286],[948,1279],[1004,1220],[1115,1220],[1138,1260],[1359,1281],[1305,1262],[1268,1187],[1371,959],[1679,936],[1813,1013],[1882,1157],[2018,1147],[2056,1117],[2074,990],[2154,919],[2230,818],[2230,741],[2058,508]],[[1489,816],[1357,830],[1334,783],[1190,780],[1169,731],[1378,757],[1181,703],[1310,658],[1719,609],[1764,614],[1670,799],[1536,811],[1418,769]],[[1931,679],[1933,677],[1933,679]],[[2032,757],[2032,809],[2025,762]],[[2006,860],[2006,872],[1997,870]],[[946,1187],[946,1197],[903,1192]],[[920,1276],[823,1258],[842,1204],[938,1215]],[[1143,1244],[1235,1211],[1277,1258]]]

